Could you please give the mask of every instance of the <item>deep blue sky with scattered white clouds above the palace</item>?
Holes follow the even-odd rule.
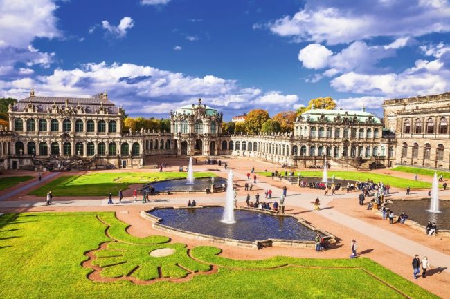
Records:
[[[381,115],[449,91],[447,0],[0,0],[0,96],[107,90],[133,116],[196,102],[225,119],[314,97]]]

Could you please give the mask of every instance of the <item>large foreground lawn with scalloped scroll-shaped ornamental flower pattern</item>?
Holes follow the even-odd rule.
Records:
[[[186,269],[208,271],[212,264],[219,270],[177,283],[92,282],[87,278],[92,270],[81,266],[87,260],[84,253],[111,241],[97,217],[111,225],[106,233],[114,232],[111,237],[119,240],[96,251],[93,263],[109,266],[100,276],[150,280],[159,276],[158,269],[171,278],[186,276]],[[125,227],[107,212],[1,216],[0,298],[404,298],[376,278],[409,298],[438,298],[367,258],[230,260],[217,255],[215,247],[195,247],[192,259],[183,244],[165,243],[168,240],[159,236],[137,241],[125,237]],[[162,247],[174,249],[174,255],[150,256]]]

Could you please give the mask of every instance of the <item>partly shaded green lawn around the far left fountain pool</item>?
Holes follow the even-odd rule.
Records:
[[[168,179],[179,179],[187,173],[92,173],[89,175],[66,175],[31,191],[30,195],[46,196],[107,196],[118,195],[119,189],[132,184],[146,184]],[[214,173],[194,173],[195,177],[215,177]]]

